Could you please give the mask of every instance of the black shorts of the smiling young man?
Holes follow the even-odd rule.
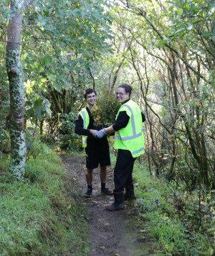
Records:
[[[105,143],[102,147],[86,147],[86,168],[95,169],[99,166],[110,165],[110,150]]]

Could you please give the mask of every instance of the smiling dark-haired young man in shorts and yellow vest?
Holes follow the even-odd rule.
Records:
[[[75,123],[75,133],[83,135],[82,147],[85,147],[86,152],[86,179],[87,179],[87,192],[85,197],[92,196],[92,171],[100,164],[100,180],[101,180],[101,193],[112,195],[113,191],[105,186],[107,176],[106,166],[110,165],[110,152],[107,137],[102,140],[96,138],[97,131],[100,127],[95,127],[94,120],[90,114],[92,106],[95,104],[97,93],[95,90],[88,88],[84,91],[84,98],[87,106],[82,109],[78,115]]]

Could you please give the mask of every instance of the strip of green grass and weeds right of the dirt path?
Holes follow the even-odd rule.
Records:
[[[209,239],[206,229],[214,229],[212,219],[212,207],[209,221],[208,212],[201,229],[191,229],[191,219],[195,218],[194,212],[191,214],[191,204],[188,198],[184,198],[183,214],[176,209],[173,201],[173,191],[164,180],[150,175],[146,165],[140,165],[136,161],[133,178],[135,181],[135,193],[138,196],[138,207],[140,209],[140,219],[142,219],[145,233],[150,233],[158,241],[158,249],[166,255],[214,255],[212,245],[213,234]],[[183,195],[182,195],[183,196]],[[189,195],[192,196],[191,194]],[[189,198],[191,201],[191,198]],[[214,214],[215,216],[215,214]],[[206,223],[207,219],[207,223]]]

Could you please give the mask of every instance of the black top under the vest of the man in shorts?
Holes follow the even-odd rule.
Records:
[[[87,129],[85,129],[82,116],[78,115],[78,118],[75,122],[75,133],[87,136],[88,149],[97,148],[97,150],[103,150],[103,147],[109,147],[107,137],[102,137],[102,139],[97,139],[93,137],[92,134],[90,134],[90,129],[96,129],[97,131],[99,131],[100,129],[102,129],[102,127],[95,127],[94,119],[90,114],[90,109],[88,109],[88,107],[86,107],[86,109],[90,117],[89,125]]]

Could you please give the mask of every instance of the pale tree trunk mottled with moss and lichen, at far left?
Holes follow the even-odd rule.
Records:
[[[7,27],[6,70],[10,91],[10,171],[16,178],[24,177],[27,147],[24,138],[24,85],[20,45],[23,13],[34,0],[10,1],[11,15]]]

